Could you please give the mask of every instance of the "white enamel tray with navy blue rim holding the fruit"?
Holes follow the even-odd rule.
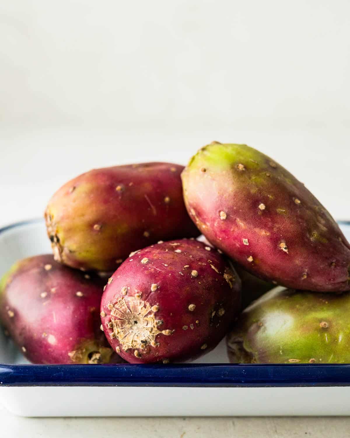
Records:
[[[41,219],[5,227],[0,276],[49,252]],[[349,415],[349,399],[350,364],[229,364],[223,341],[191,364],[32,365],[0,330],[0,403],[22,416]]]

